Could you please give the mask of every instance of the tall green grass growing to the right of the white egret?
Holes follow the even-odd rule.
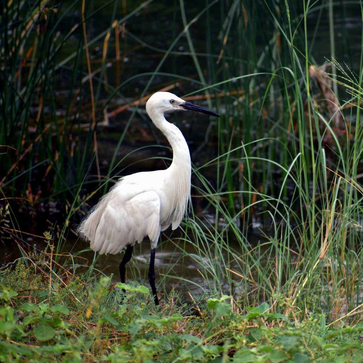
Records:
[[[220,3],[221,14],[229,14],[223,18],[223,39],[231,36],[231,29],[257,33],[252,15],[258,5],[243,15],[242,7],[236,10],[237,3],[241,5],[233,2],[227,10]],[[334,77],[327,68],[330,78],[323,78],[324,94],[316,89],[321,79],[309,74],[310,66],[318,66],[309,48],[309,14],[327,8],[306,2],[298,13],[291,6],[285,2],[273,8],[265,3],[273,32],[265,48],[269,57],[262,54],[255,66],[241,56],[240,38],[225,42],[223,64],[211,77],[220,70],[223,81],[213,79],[215,87],[225,87],[223,94],[237,89],[242,95],[223,98],[219,156],[193,173],[194,193],[208,201],[207,210],[215,211],[214,223],[192,212],[184,236],[172,241],[181,259],[195,261],[203,276],[200,291],[231,294],[242,306],[269,301],[276,311],[298,319],[318,310],[329,323],[359,322],[362,187],[357,167],[363,149],[360,110],[355,105],[360,104],[362,74],[354,76],[333,60],[345,99],[331,114],[321,99],[334,95],[330,83]],[[251,63],[253,46],[245,46]],[[209,47],[213,49],[212,42]],[[227,50],[233,53],[232,60],[226,59]],[[233,67],[236,60],[240,64]],[[256,81],[259,78],[265,79],[263,86]],[[335,123],[336,113],[342,114],[340,123]],[[204,172],[212,167],[215,178],[206,178]],[[254,228],[260,241],[250,244],[256,236],[248,233],[249,226],[256,218],[264,227]],[[185,244],[192,244],[195,253],[183,254]],[[164,276],[173,276],[172,269]]]

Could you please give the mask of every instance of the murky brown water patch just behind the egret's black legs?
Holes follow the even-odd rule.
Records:
[[[231,258],[231,254],[229,256],[227,253],[225,255],[222,254],[219,259],[206,257],[203,256],[203,252],[199,253],[192,244],[188,242],[184,244],[184,241],[178,238],[181,234],[180,231],[171,231],[171,229],[168,229],[163,234],[161,242],[159,242],[156,248],[155,256],[156,287],[159,294],[162,294],[163,291],[168,293],[174,289],[180,291],[186,301],[190,301],[191,295],[193,298],[196,298],[203,293],[214,291],[213,284],[215,283],[218,285],[216,286],[218,290],[222,290],[227,294],[234,295],[245,289],[245,281],[240,275],[238,262],[234,258]],[[261,241],[261,238],[259,239],[255,235],[249,238],[249,241],[253,245],[256,245]],[[88,247],[89,245],[84,241],[72,241],[68,239],[65,243],[64,250],[72,253]],[[233,241],[230,242],[229,247],[237,251],[241,250],[241,247]],[[86,268],[95,256],[97,256],[95,268],[106,276],[113,274],[112,280],[114,282],[120,281],[118,266],[123,257],[123,252],[115,255],[99,255],[93,251],[86,251],[82,252],[81,256],[87,259],[87,263],[84,260],[77,260],[76,258],[76,261],[79,263],[77,267],[78,271]],[[237,256],[239,256],[238,253]],[[149,287],[147,277],[149,259],[150,242],[144,240],[141,244],[136,244],[131,261],[126,265],[126,283],[136,280],[140,284]],[[221,260],[224,260],[228,266],[229,272],[227,273],[229,273],[231,280],[228,280],[223,273],[217,277],[212,276],[210,273],[208,274],[209,264],[214,264],[214,268],[219,271],[219,267],[222,265]],[[225,272],[223,268],[222,270]],[[163,302],[165,301],[163,299]]]

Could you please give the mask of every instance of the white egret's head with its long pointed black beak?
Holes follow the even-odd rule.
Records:
[[[156,92],[146,102],[146,112],[151,117],[152,114],[164,114],[170,111],[197,111],[207,115],[221,117],[221,115],[203,107],[184,101],[170,92]]]

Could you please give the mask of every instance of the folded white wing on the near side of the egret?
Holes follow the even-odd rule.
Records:
[[[160,197],[156,192],[141,192],[129,199],[115,193],[102,213],[91,249],[100,254],[115,254],[126,245],[141,242],[145,236],[154,248],[159,234]]]

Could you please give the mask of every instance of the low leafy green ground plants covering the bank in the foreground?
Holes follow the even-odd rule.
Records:
[[[187,305],[173,292],[159,309],[147,304],[147,287],[74,276],[71,265],[49,270],[52,262],[42,254],[3,272],[1,362],[358,362],[363,354],[362,324],[327,329],[318,311],[301,323],[268,303],[242,314],[227,295]]]

